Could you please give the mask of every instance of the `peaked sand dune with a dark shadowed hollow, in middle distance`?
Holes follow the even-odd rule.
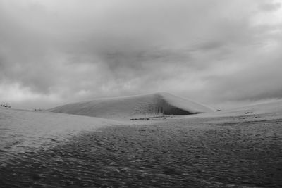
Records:
[[[49,109],[99,118],[130,119],[156,115],[189,115],[214,111],[212,108],[166,92],[94,99]]]

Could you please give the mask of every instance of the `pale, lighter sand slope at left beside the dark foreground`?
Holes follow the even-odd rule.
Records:
[[[22,153],[56,146],[73,135],[116,123],[79,115],[0,108],[0,163],[20,157]]]

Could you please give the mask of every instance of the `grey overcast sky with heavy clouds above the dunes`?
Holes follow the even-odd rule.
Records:
[[[216,108],[281,99],[282,2],[0,0],[0,102],[158,91]]]

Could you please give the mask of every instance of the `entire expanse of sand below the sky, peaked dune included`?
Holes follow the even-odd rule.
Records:
[[[114,118],[212,111],[167,93],[57,108]],[[0,107],[0,184],[281,187],[282,101],[168,116],[128,122]]]

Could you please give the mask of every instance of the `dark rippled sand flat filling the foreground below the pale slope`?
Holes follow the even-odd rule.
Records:
[[[282,119],[116,125],[1,166],[3,187],[282,187]],[[142,121],[140,121],[142,124]]]

